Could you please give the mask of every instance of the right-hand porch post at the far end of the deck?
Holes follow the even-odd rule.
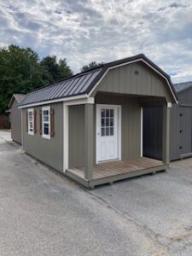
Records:
[[[170,161],[170,108],[170,102],[163,106],[163,162],[166,165]]]

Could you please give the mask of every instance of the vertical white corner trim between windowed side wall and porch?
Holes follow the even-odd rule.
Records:
[[[68,169],[68,106],[63,102],[63,172]]]

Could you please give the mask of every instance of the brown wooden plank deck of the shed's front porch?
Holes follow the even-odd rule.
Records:
[[[84,167],[68,169],[67,176],[76,179],[87,187],[94,187],[97,184],[112,183],[127,177],[163,170],[166,170],[166,165],[162,161],[140,157],[132,160],[114,160],[97,164],[93,168],[93,179],[91,181],[85,180]]]

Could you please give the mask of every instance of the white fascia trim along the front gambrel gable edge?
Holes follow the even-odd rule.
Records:
[[[134,62],[138,62],[138,61],[143,61],[146,65],[148,65],[148,67],[152,68],[156,73],[159,73],[162,78],[166,79],[166,83],[169,85],[169,89],[172,91],[172,96],[173,96],[175,102],[177,103],[177,98],[175,96],[175,93],[172,90],[172,85],[170,84],[169,80],[162,73],[160,73],[156,68],[151,66],[147,61],[143,60],[143,58],[137,59],[135,61],[128,61],[128,62],[119,64],[119,65],[116,65],[116,66],[113,66],[113,67],[108,67],[106,72],[103,73],[102,78],[99,79],[99,81],[96,83],[96,85],[93,87],[93,89],[90,90],[89,96],[93,93],[94,90],[96,90],[97,85],[101,83],[102,79],[106,76],[106,74],[108,73],[109,70],[111,70],[113,68],[116,68],[116,67],[123,67],[125,65],[128,65],[128,64],[131,64],[131,63],[134,63]]]

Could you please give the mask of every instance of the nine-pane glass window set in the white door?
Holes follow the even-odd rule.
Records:
[[[113,136],[114,133],[114,110],[113,109],[102,109],[102,136]]]

